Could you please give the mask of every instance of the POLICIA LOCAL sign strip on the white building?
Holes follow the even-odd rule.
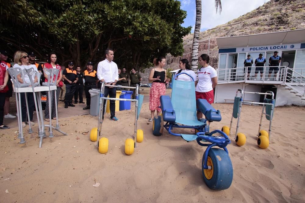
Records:
[[[299,44],[279,44],[279,45],[264,45],[259,47],[239,47],[236,48],[236,52],[253,52],[253,51],[279,51],[279,50],[290,50],[300,49],[301,43]]]

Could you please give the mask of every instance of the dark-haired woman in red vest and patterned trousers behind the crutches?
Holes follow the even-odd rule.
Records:
[[[59,74],[58,74],[57,79],[56,79],[57,89],[51,91],[51,104],[52,104],[51,109],[52,109],[52,112],[49,112],[49,96],[48,96],[48,94],[46,94],[47,95],[47,100],[46,100],[46,103],[45,103],[45,120],[50,121],[49,120],[50,119],[50,114],[51,114],[51,117],[53,119],[56,119],[55,102],[58,104],[59,93],[60,93],[59,88],[63,86],[63,82],[61,80],[63,78],[63,74],[61,72],[60,65],[57,64],[57,57],[56,57],[55,52],[52,52],[52,53],[49,54],[48,62],[43,65],[43,68],[48,68],[48,69],[57,68],[59,70]],[[47,74],[45,74],[45,72],[44,72],[44,76],[45,76],[45,82],[48,82],[49,76]],[[54,91],[56,91],[56,101],[55,101]]]

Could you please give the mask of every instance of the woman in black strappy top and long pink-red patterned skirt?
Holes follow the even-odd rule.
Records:
[[[152,81],[152,87],[149,93],[149,110],[151,113],[151,118],[149,122],[152,122],[155,110],[157,110],[157,115],[160,115],[160,96],[165,95],[165,83],[168,83],[170,79],[166,78],[165,69],[165,58],[158,57],[153,61],[155,68],[152,68],[149,74],[149,81]]]

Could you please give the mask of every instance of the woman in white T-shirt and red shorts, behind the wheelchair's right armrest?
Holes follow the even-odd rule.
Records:
[[[198,70],[198,83],[196,86],[196,99],[205,99],[210,104],[214,102],[214,90],[217,85],[217,73],[213,67],[208,65],[210,57],[202,54],[199,57],[201,68]],[[197,111],[197,118],[202,118],[201,112]]]

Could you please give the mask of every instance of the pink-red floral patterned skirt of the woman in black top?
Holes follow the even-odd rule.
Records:
[[[165,83],[153,82],[149,93],[149,110],[161,111],[160,96],[165,95]]]

